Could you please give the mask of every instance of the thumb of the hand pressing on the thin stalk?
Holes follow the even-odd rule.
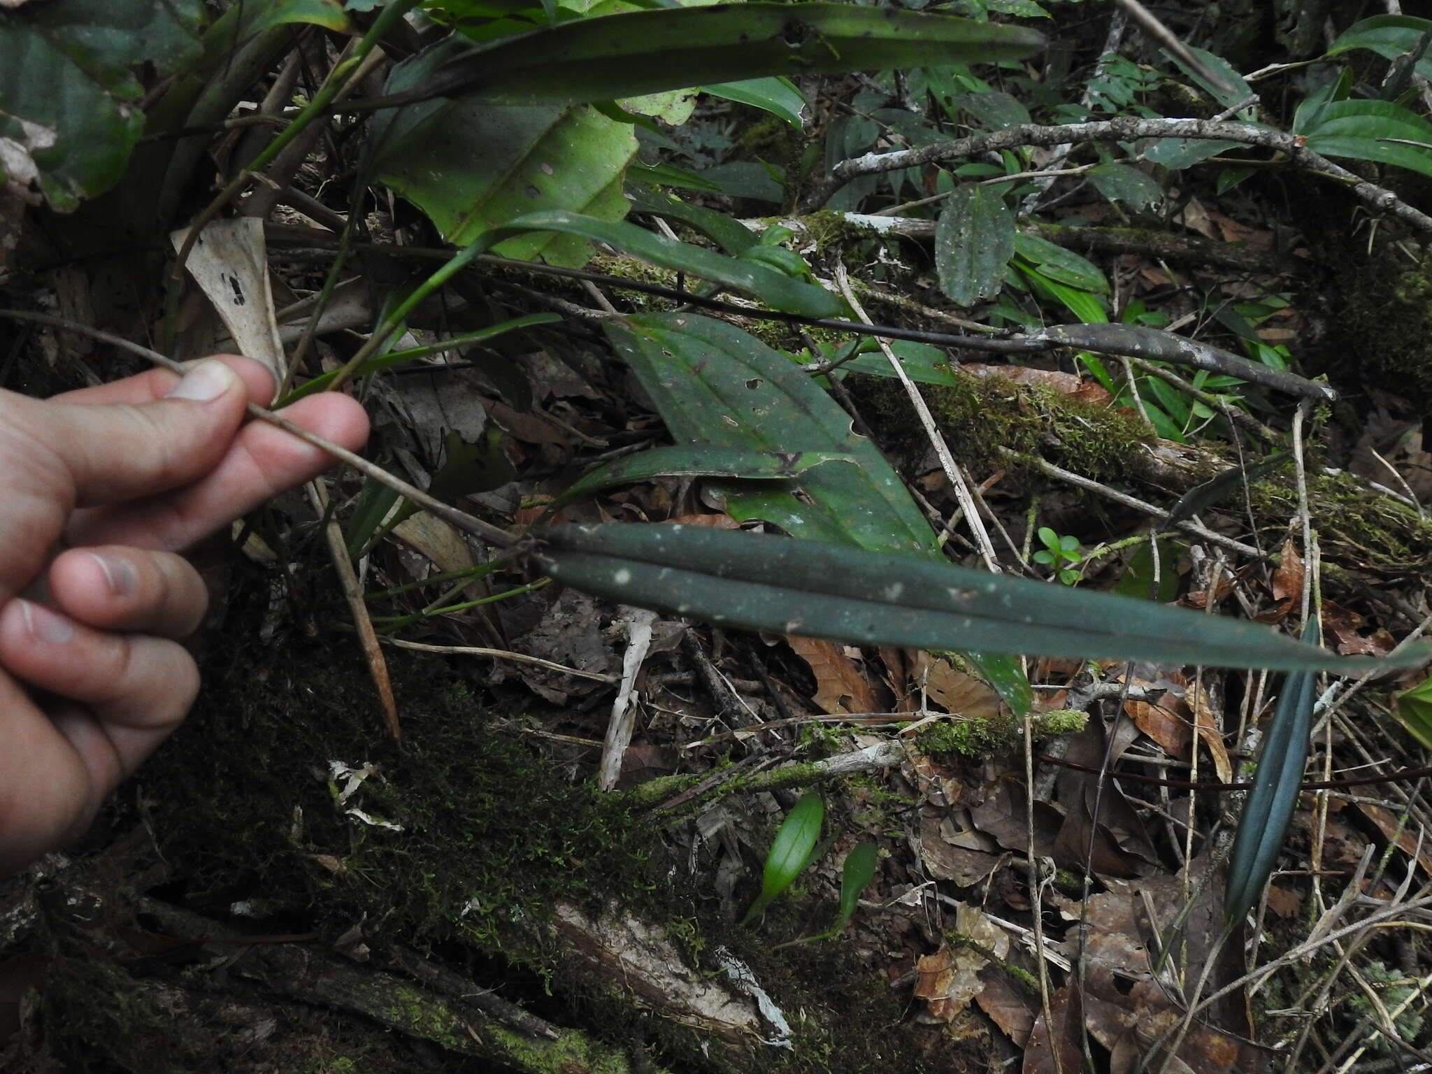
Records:
[[[74,507],[123,503],[186,485],[223,458],[248,388],[223,362],[190,368],[146,404],[39,404],[36,438],[69,471]]]

